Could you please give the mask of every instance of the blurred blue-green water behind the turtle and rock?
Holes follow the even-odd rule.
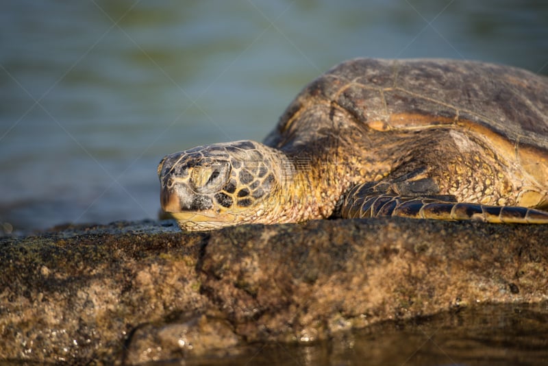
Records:
[[[307,82],[357,56],[546,74],[548,2],[5,0],[0,223],[154,218],[162,156],[261,140]]]

